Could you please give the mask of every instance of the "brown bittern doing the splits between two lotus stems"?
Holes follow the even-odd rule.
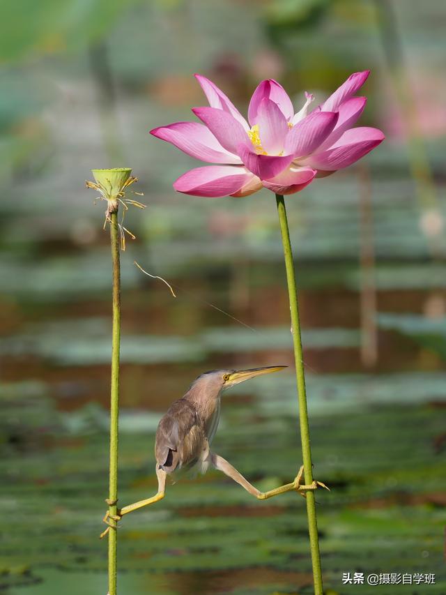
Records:
[[[199,375],[183,397],[172,403],[158,424],[155,435],[157,493],[150,498],[117,509],[116,515],[110,515],[107,511],[102,520],[108,526],[101,534],[101,538],[107,534],[110,528],[116,529],[116,524],[110,523],[109,519],[117,522],[123,515],[159,502],[164,498],[166,492],[167,476],[174,476],[174,474],[178,476],[190,469],[197,469],[201,473],[206,473],[209,467],[218,469],[259,500],[291,490],[296,490],[305,497],[306,491],[316,490],[318,486],[329,489],[324,483],[316,480],[312,484],[302,485],[300,483],[304,472],[302,465],[292,483],[286,483],[268,492],[261,492],[249,483],[230,462],[210,449],[220,421],[222,393],[240,382],[279,372],[286,367],[264,366],[248,370],[210,370]],[[116,504],[109,500],[105,502],[109,506]]]

